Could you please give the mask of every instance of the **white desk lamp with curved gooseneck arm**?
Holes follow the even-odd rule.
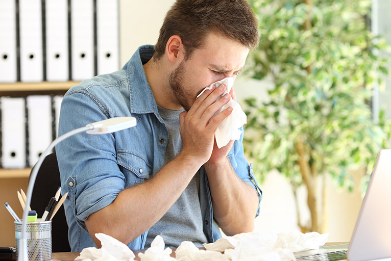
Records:
[[[37,177],[38,170],[41,167],[42,162],[46,158],[47,154],[50,153],[57,144],[76,134],[83,133],[83,132],[86,132],[88,134],[114,133],[126,128],[133,127],[136,125],[136,123],[137,121],[136,118],[134,117],[117,117],[117,118],[110,118],[110,119],[90,123],[85,125],[84,127],[74,129],[73,131],[70,131],[58,137],[40,155],[37,163],[35,164],[33,170],[31,171],[29,185],[27,187],[26,206],[25,209],[23,210],[23,217],[22,217],[23,220],[22,220],[21,234],[19,239],[18,261],[28,261],[29,259],[27,254],[27,239],[26,239],[26,226],[27,226],[27,217],[29,213],[29,205],[31,203],[31,197],[33,194],[33,188],[34,188],[35,179]]]

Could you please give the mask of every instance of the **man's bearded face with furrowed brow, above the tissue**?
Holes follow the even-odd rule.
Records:
[[[201,91],[226,77],[236,77],[245,65],[249,49],[239,42],[210,33],[204,46],[195,49],[169,76],[173,99],[190,110]]]

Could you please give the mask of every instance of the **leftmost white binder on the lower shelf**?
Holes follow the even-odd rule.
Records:
[[[2,109],[2,167],[26,167],[25,99],[0,97]]]

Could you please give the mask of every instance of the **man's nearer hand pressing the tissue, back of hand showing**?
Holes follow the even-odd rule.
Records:
[[[191,159],[199,161],[201,165],[209,161],[212,151],[214,151],[214,133],[218,124],[232,112],[232,108],[229,107],[213,117],[231,99],[231,95],[226,94],[216,101],[225,89],[225,85],[220,85],[218,88],[213,87],[211,90],[206,90],[194,101],[188,112],[184,111],[179,115],[183,145],[181,153],[190,155]],[[213,119],[211,119],[212,117]],[[221,152],[225,152],[225,150],[223,149]],[[218,159],[222,158],[222,155],[219,154],[221,153],[216,152]]]

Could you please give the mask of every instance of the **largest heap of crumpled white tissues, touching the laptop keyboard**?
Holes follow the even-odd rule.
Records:
[[[326,243],[327,237],[328,233],[265,231],[236,234],[203,245],[207,250],[224,252],[232,261],[290,261],[296,260],[294,252],[319,249]]]

